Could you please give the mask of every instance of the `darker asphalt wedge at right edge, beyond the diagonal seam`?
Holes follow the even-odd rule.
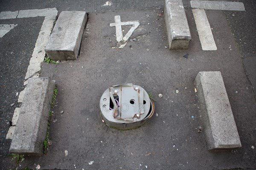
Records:
[[[223,11],[230,26],[230,30],[236,39],[236,46],[239,48],[243,58],[246,75],[252,84],[253,93],[256,98],[256,2],[253,0],[239,0],[244,3],[244,14],[234,11]]]

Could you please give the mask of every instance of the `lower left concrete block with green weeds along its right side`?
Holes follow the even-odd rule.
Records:
[[[29,79],[12,138],[11,153],[44,153],[44,139],[54,88],[55,81],[49,78]]]

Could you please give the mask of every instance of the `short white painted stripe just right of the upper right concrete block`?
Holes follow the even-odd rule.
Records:
[[[199,39],[203,50],[217,50],[212,30],[204,9],[192,9]]]

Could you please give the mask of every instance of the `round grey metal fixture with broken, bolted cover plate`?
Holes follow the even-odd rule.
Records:
[[[113,106],[113,101],[116,107]],[[100,99],[100,109],[106,123],[120,129],[138,126],[154,112],[148,93],[141,86],[133,84],[106,89]]]

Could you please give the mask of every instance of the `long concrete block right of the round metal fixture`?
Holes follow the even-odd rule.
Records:
[[[199,72],[195,78],[208,150],[241,147],[221,72]]]

